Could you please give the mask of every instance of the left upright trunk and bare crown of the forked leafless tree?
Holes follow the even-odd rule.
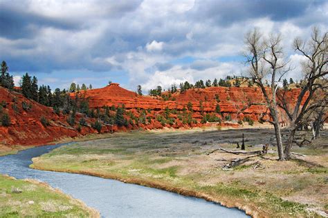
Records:
[[[277,83],[291,68],[289,68],[288,61],[284,58],[281,43],[282,37],[280,34],[271,34],[268,39],[264,39],[259,30],[255,28],[245,36],[246,50],[244,57],[246,57],[246,64],[250,66],[250,77],[261,88],[266,105],[270,110],[272,118],[270,122],[275,128],[279,160],[284,160],[276,93]],[[269,88],[265,86],[267,81]]]

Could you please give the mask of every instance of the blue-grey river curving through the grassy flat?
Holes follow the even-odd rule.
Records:
[[[64,144],[30,148],[16,155],[0,157],[0,173],[17,179],[45,181],[97,209],[102,217],[248,217],[235,208],[226,208],[203,199],[184,197],[156,188],[28,167],[32,164],[33,157],[62,145]]]

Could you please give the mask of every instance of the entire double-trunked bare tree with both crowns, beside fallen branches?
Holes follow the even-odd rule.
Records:
[[[290,159],[291,148],[295,142],[294,135],[296,130],[302,125],[302,119],[307,112],[327,106],[327,86],[322,85],[320,81],[326,81],[327,75],[327,51],[328,34],[320,34],[318,28],[313,28],[311,39],[304,43],[297,38],[294,41],[295,51],[300,52],[307,61],[302,63],[302,88],[297,97],[293,108],[286,102],[286,86],[281,88],[279,83],[291,70],[289,61],[286,60],[282,50],[282,37],[280,34],[271,34],[268,39],[264,39],[259,30],[255,29],[248,32],[245,36],[246,50],[244,57],[249,66],[249,75],[251,79],[261,88],[266,105],[270,110],[271,122],[275,128],[275,137],[277,150],[280,160]],[[268,87],[266,88],[266,82]],[[285,82],[286,83],[286,82]],[[325,98],[321,101],[313,101],[313,97],[318,92],[325,93]],[[278,101],[277,101],[278,98]],[[286,112],[289,117],[289,139],[286,146],[282,144],[280,120],[281,116],[278,106]],[[292,110],[291,110],[292,108]]]

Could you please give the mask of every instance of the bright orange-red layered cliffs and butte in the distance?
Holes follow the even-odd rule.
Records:
[[[298,88],[288,92],[291,103],[295,101],[299,92]],[[71,93],[71,97],[75,95],[76,93]],[[201,106],[203,112],[215,112],[218,104],[221,113],[230,114],[233,119],[247,115],[258,120],[260,116],[268,113],[264,96],[258,87],[194,88],[183,93],[175,92],[169,101],[164,101],[161,97],[137,95],[136,92],[121,88],[118,83],[111,83],[104,88],[81,91],[78,95],[88,100],[90,108],[118,107],[124,104],[127,110],[133,108],[155,111],[165,108],[183,110],[190,102],[194,112],[200,112]]]

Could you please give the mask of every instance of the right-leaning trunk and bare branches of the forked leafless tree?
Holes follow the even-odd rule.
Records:
[[[327,82],[322,81],[327,81],[328,74],[328,32],[320,34],[320,30],[314,27],[309,41],[302,41],[302,39],[296,38],[293,47],[296,52],[305,57],[306,61],[302,63],[301,90],[295,106],[291,107],[286,103],[286,95],[278,95],[280,99],[279,105],[286,112],[290,121],[289,138],[284,148],[284,159],[290,159],[295,132],[302,125],[306,115],[316,110],[320,111],[320,108],[327,107]],[[316,101],[316,95],[323,95],[325,99]],[[318,119],[324,118],[320,116],[319,114]]]

